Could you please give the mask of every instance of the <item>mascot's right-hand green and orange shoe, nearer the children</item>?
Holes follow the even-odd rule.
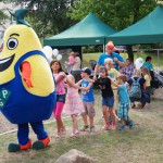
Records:
[[[46,139],[42,139],[42,140],[35,141],[33,143],[33,149],[35,149],[35,150],[43,149],[49,145],[49,142],[50,142],[49,137],[47,137]]]

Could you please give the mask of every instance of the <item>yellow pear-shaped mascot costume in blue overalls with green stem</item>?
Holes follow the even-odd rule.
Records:
[[[20,9],[13,14],[16,24],[5,30],[0,53],[0,111],[17,124],[18,143],[10,143],[10,152],[39,150],[49,145],[42,121],[51,116],[57,101],[50,66],[36,33],[24,20],[26,13]],[[37,135],[34,143],[28,125]]]

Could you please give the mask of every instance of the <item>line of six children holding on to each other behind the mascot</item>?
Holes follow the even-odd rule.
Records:
[[[89,130],[95,131],[95,97],[93,97],[93,84],[99,85],[102,95],[102,113],[104,117],[103,129],[108,130],[110,126],[112,129],[116,129],[116,118],[121,122],[120,130],[125,128],[126,123],[129,128],[133,128],[133,121],[128,116],[129,111],[129,97],[127,91],[127,77],[120,75],[115,68],[112,68],[112,59],[105,59],[104,66],[99,70],[99,77],[93,80],[90,78],[91,71],[88,67],[84,67],[80,71],[82,80],[75,83],[74,77],[66,75],[59,61],[52,61],[50,67],[57,83],[57,105],[53,110],[54,117],[57,120],[58,137],[65,131],[61,114],[62,111],[67,113],[72,117],[73,133],[71,137],[77,136],[80,131]],[[109,74],[114,74],[113,76]],[[118,74],[117,78],[116,75]],[[116,79],[116,82],[115,82]],[[66,90],[65,90],[66,88]],[[82,98],[78,95],[78,90],[82,91]],[[118,110],[114,112],[113,108]],[[77,115],[82,115],[84,126],[79,129],[77,125]],[[111,118],[111,123],[109,122]]]

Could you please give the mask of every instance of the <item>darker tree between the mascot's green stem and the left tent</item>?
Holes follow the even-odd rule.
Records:
[[[5,0],[20,3],[30,10],[27,21],[40,38],[58,34],[70,27],[74,21],[66,17],[68,8],[75,0]]]

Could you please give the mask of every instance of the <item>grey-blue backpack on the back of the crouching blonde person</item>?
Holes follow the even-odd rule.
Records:
[[[141,86],[139,84],[140,77],[138,79],[135,79],[131,77],[133,84],[129,89],[129,98],[141,98]]]

